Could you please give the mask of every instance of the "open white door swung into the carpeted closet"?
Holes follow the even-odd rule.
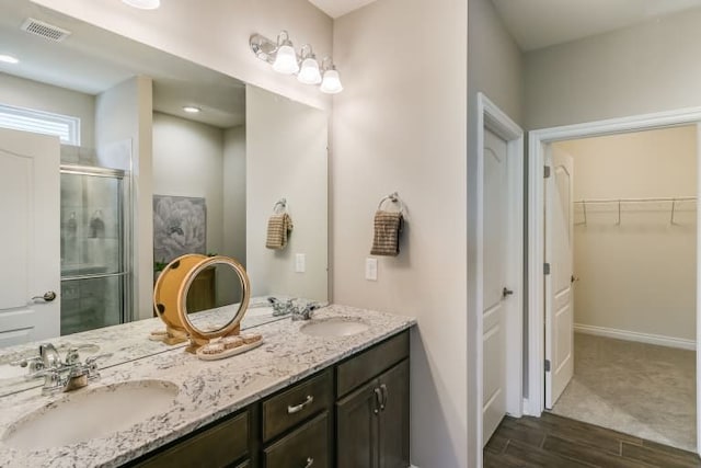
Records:
[[[552,146],[551,146],[552,148]],[[552,409],[574,374],[573,160],[553,150],[545,183],[545,408]]]

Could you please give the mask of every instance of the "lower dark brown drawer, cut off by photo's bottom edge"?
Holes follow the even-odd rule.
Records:
[[[329,467],[329,412],[324,411],[264,450],[265,468]]]

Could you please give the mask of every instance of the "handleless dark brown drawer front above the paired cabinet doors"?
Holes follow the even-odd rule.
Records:
[[[343,397],[405,357],[409,357],[409,331],[340,364],[336,369],[337,397]]]

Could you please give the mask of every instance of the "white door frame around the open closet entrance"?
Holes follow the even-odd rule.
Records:
[[[697,126],[697,196],[701,195],[701,107],[682,109],[584,124],[542,128],[528,134],[528,397],[525,412],[540,416],[545,409],[544,387],[544,179],[543,167],[548,147],[576,138],[651,130],[682,125]],[[697,203],[697,307],[696,307],[696,368],[697,368],[697,453],[701,454],[701,203]]]

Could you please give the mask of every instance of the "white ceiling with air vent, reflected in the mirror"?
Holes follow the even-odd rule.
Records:
[[[128,8],[128,7],[125,7]],[[137,75],[153,79],[153,109],[221,128],[245,119],[245,87],[229,76],[108,33],[27,0],[0,0],[0,54],[18,65],[0,62],[0,72],[99,94]],[[61,43],[20,30],[27,18],[72,34]],[[200,107],[186,114],[183,105]]]

